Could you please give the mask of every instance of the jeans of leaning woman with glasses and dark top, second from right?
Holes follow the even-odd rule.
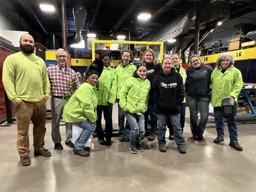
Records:
[[[204,134],[205,126],[209,115],[209,97],[187,95],[187,104],[190,112],[190,129],[192,134]],[[198,114],[200,112],[200,121],[197,124]]]

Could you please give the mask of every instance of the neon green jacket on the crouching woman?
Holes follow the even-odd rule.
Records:
[[[93,123],[97,120],[97,104],[96,88],[83,83],[65,104],[63,121],[73,123],[89,119]]]

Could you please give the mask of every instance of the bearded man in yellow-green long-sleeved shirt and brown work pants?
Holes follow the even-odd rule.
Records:
[[[8,98],[15,104],[17,122],[17,151],[23,166],[30,165],[29,124],[33,123],[34,155],[50,157],[44,148],[46,102],[49,97],[49,79],[44,61],[33,54],[34,38],[20,37],[20,52],[9,55],[3,63],[3,86]]]

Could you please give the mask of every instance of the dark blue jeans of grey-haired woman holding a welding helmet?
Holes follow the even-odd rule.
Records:
[[[214,119],[216,123],[216,131],[218,136],[224,138],[224,121],[221,113],[221,106],[214,107]],[[238,142],[236,116],[232,119],[227,119],[227,127],[229,127],[230,141]]]

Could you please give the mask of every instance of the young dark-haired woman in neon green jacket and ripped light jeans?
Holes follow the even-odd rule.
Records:
[[[131,127],[130,151],[134,154],[144,151],[140,136],[145,133],[143,113],[147,111],[150,92],[150,81],[146,79],[146,74],[147,68],[139,63],[136,73],[125,81],[119,93],[119,105]]]

